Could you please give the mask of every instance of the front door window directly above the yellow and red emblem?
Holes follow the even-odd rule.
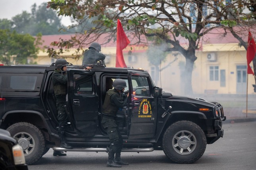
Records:
[[[131,76],[133,94],[135,96],[150,96],[148,78],[143,76]]]

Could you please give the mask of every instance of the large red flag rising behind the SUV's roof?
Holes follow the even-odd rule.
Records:
[[[116,58],[115,67],[127,67],[123,59],[123,49],[130,43],[119,19],[117,19],[117,35],[116,35]]]

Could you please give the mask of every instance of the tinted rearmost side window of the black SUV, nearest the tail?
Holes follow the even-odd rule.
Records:
[[[6,74],[3,91],[40,92],[43,74]],[[4,82],[3,82],[4,83]]]

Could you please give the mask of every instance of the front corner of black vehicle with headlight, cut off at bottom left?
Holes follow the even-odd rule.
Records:
[[[0,169],[28,170],[21,146],[3,129],[0,129]]]

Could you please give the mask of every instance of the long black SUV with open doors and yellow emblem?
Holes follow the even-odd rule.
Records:
[[[192,163],[203,155],[206,144],[223,136],[225,117],[218,102],[163,92],[143,70],[96,66],[90,71],[67,67],[65,108],[70,126],[65,136],[73,149],[58,147],[54,63],[0,66],[0,128],[19,141],[27,164],[37,162],[50,148],[107,151],[110,142],[100,123],[107,78],[125,80],[130,94],[116,118],[125,141],[123,152],[163,150],[174,162]]]

